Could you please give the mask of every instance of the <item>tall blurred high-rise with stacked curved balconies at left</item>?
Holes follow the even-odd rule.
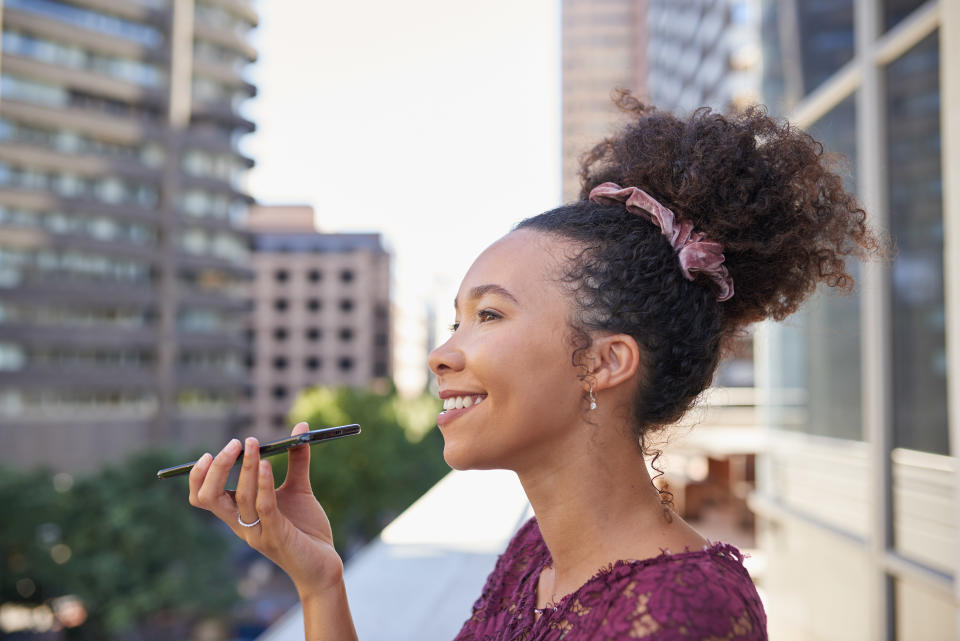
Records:
[[[0,462],[89,469],[237,423],[245,0],[4,0]]]

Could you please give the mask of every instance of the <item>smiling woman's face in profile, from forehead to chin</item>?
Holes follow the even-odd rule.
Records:
[[[451,467],[518,470],[542,463],[575,432],[584,388],[571,362],[571,302],[557,281],[567,248],[518,230],[464,277],[456,329],[430,354],[440,398],[465,399],[437,417]]]

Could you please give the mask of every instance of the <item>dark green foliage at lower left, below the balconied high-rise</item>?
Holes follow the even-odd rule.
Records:
[[[0,601],[76,595],[89,616],[71,636],[87,639],[225,612],[237,598],[232,535],[190,507],[184,484],[156,479],[170,458],[142,454],[62,491],[44,472],[0,472],[0,505],[14,515],[0,529]]]

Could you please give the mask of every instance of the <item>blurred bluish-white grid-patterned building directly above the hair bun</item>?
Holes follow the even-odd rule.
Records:
[[[647,87],[653,104],[687,114],[760,98],[759,0],[650,0]]]

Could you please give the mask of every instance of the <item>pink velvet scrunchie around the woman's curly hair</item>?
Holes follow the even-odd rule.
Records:
[[[680,269],[687,280],[693,280],[693,273],[700,272],[719,286],[718,301],[722,303],[733,297],[733,279],[723,266],[723,245],[705,240],[704,234],[693,231],[692,222],[682,220],[678,223],[672,211],[636,187],[603,183],[590,190],[590,200],[602,205],[622,203],[631,214],[655,223],[677,252]]]

